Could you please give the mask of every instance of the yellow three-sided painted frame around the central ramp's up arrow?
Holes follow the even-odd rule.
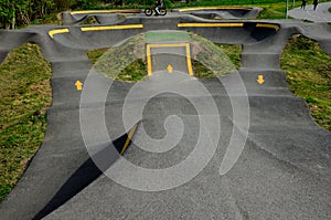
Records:
[[[185,50],[186,50],[186,63],[188,63],[189,74],[193,75],[192,63],[191,63],[190,43],[147,44],[147,52],[146,52],[147,53],[147,74],[149,76],[152,75],[151,54],[150,54],[151,48],[180,48],[180,46],[185,46]]]

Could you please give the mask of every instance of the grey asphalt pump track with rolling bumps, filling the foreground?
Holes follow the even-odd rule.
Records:
[[[12,49],[34,42],[53,71],[44,143],[1,203],[0,219],[331,218],[331,134],[313,122],[305,101],[291,94],[279,66],[285,44],[298,33],[331,54],[328,24],[215,21],[180,13],[113,21],[0,32],[2,60]],[[173,48],[166,55],[159,51],[160,62],[151,63],[151,75],[141,83],[90,72],[88,49],[118,45],[156,30],[192,31],[213,42],[241,43],[242,67],[221,78],[196,80],[189,75],[186,51]],[[172,53],[184,59],[169,74],[162,61]],[[83,91],[76,90],[77,81],[84,83]],[[140,108],[141,114],[136,111]],[[138,167],[166,170],[193,158],[192,166],[183,166],[174,177],[126,169],[111,146],[124,146],[128,136],[134,142],[124,157]],[[228,150],[238,157],[229,170],[222,168],[224,158],[233,158]],[[177,181],[182,184],[172,187]]]

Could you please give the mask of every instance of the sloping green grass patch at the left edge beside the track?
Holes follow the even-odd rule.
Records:
[[[14,187],[44,137],[51,66],[24,44],[0,65],[0,201]]]

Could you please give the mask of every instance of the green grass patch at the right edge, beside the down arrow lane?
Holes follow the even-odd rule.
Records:
[[[303,97],[311,115],[331,132],[331,56],[317,42],[293,35],[281,55],[290,90]]]

